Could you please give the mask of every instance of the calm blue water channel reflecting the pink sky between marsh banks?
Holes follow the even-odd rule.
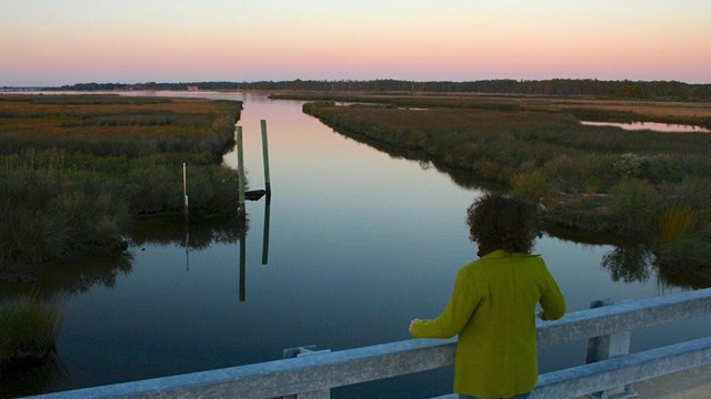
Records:
[[[464,215],[483,188],[473,183],[455,183],[428,161],[393,157],[347,139],[303,114],[298,101],[157,94],[243,101],[240,125],[252,190],[264,187],[260,120],[266,120],[271,201],[248,202],[243,234],[222,218],[189,225],[141,221],[129,256],[40,276],[42,284],[67,293],[59,359],[51,370],[36,371],[42,379],[18,377],[13,385],[23,388],[6,396],[274,360],[283,349],[304,345],[340,350],[409,339],[410,320],[435,316],[459,267],[474,258]],[[236,165],[237,155],[227,154],[224,162]],[[570,310],[595,299],[704,286],[658,276],[645,254],[632,268],[603,262],[605,254],[637,249],[550,233],[541,233],[535,245]],[[709,319],[649,329],[633,334],[632,350],[709,334]],[[581,364],[584,352],[584,342],[547,348],[541,371]],[[451,392],[451,369],[342,388],[333,397],[445,392]]]

